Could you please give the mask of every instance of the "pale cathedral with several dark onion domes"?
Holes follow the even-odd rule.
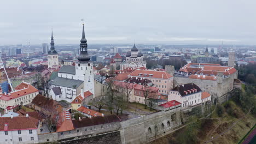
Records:
[[[146,68],[147,62],[143,61],[143,54],[141,51],[138,51],[136,45],[134,44],[131,51],[128,51],[125,56],[125,61],[121,63],[120,69],[124,70],[126,68]]]

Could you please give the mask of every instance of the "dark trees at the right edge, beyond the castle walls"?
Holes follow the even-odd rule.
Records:
[[[242,64],[236,69],[238,70],[238,79],[254,86],[256,85],[256,63]]]

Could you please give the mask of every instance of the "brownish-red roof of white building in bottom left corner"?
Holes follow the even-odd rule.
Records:
[[[8,126],[4,126],[8,124]],[[22,130],[22,129],[37,129],[39,120],[33,117],[0,117],[0,131]]]

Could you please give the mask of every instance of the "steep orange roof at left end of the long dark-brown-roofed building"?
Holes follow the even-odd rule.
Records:
[[[59,119],[56,125],[56,131],[61,132],[61,131],[69,131],[73,129],[74,129],[74,125],[72,123],[72,117],[69,111],[68,110],[62,111],[59,114]]]

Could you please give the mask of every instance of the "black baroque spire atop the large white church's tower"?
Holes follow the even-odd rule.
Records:
[[[86,62],[86,61],[90,61],[90,59],[91,57],[88,55],[88,52],[87,52],[87,40],[85,38],[84,24],[83,24],[82,39],[80,40],[80,55],[78,56],[78,61]]]

